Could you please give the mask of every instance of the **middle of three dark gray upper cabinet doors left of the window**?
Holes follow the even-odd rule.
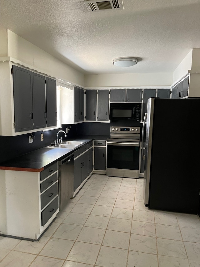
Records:
[[[32,73],[33,129],[46,127],[45,76]]]

